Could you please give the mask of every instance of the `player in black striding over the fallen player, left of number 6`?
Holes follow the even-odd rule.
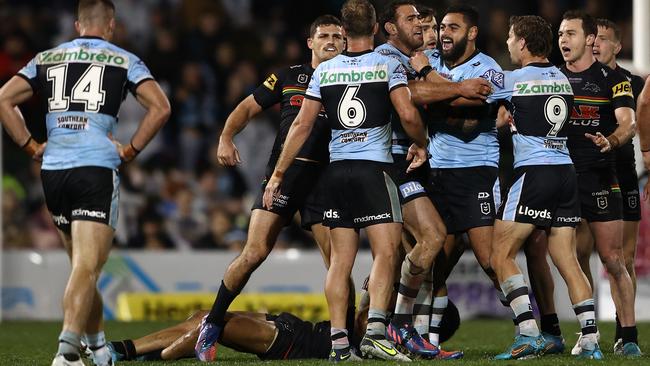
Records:
[[[311,25],[307,45],[312,50],[311,62],[291,66],[277,74],[269,75],[264,83],[239,103],[230,114],[219,139],[217,154],[221,164],[234,166],[241,162],[233,137],[253,116],[263,109],[281,103],[282,122],[267,166],[268,179],[278,160],[289,127],[300,110],[314,68],[343,51],[344,40],[340,21],[331,15],[317,18]],[[246,245],[226,269],[217,298],[196,343],[196,355],[200,360],[215,359],[216,344],[225,324],[226,310],[246,285],[252,272],[269,255],[280,230],[290,222],[296,211],[300,210],[303,227],[311,228],[326,264],[329,263],[329,234],[321,225],[323,209],[319,205],[315,189],[321,172],[329,161],[328,143],[329,128],[326,116],[321,112],[307,143],[286,172],[282,195],[273,201],[270,209],[262,206],[260,193],[251,213]],[[263,186],[265,183],[266,180]],[[263,190],[262,187],[262,192]]]

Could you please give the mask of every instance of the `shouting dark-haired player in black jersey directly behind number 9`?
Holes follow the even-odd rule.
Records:
[[[614,150],[634,135],[634,97],[630,82],[596,61],[596,21],[581,11],[563,16],[558,32],[566,74],[575,94],[569,120],[568,147],[578,174],[582,222],[577,242],[591,231],[607,269],[612,298],[621,322],[623,353],[639,356],[634,317],[634,288],[623,255],[621,190]]]

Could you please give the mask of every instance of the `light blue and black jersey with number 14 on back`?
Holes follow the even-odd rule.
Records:
[[[152,78],[140,59],[101,38],[80,37],[40,52],[19,75],[47,109],[44,170],[117,168],[109,133],[127,91]]]

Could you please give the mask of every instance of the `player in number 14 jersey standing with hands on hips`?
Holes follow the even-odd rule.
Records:
[[[12,139],[41,160],[45,201],[72,263],[63,295],[63,330],[52,365],[82,366],[81,337],[96,365],[110,365],[102,299],[96,282],[108,259],[119,201],[118,166],[131,161],[167,121],[169,101],[144,63],[109,43],[110,0],[82,0],[80,37],[40,52],[0,89],[0,120]],[[147,113],[125,145],[111,138],[126,92]],[[38,93],[47,107],[47,145],[39,144],[15,108]]]

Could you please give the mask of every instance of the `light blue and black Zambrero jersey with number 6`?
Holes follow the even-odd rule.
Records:
[[[400,63],[370,50],[318,65],[305,98],[320,101],[332,129],[330,161],[392,163],[390,92],[407,86]]]

